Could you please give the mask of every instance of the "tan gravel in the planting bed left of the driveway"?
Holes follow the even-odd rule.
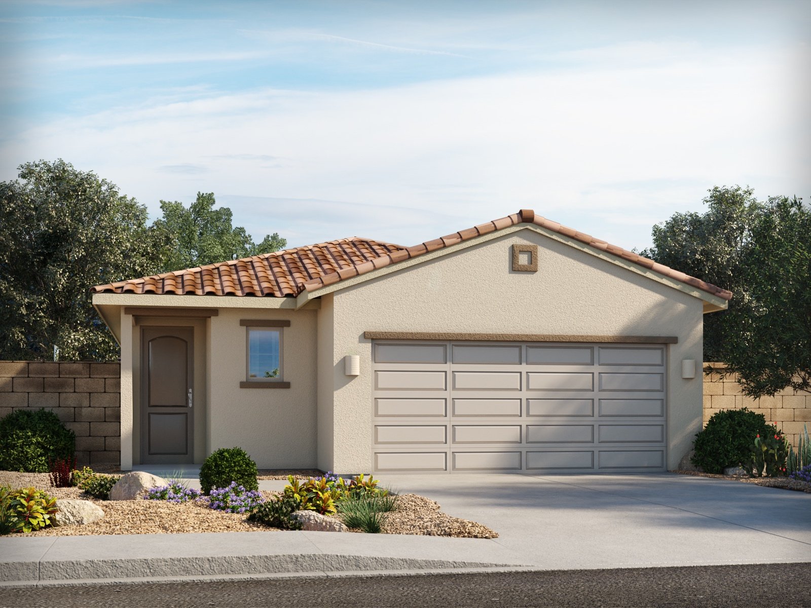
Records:
[[[293,474],[294,472],[286,472]],[[277,477],[286,479],[287,474]],[[320,474],[320,472],[315,472]],[[307,477],[306,475],[304,477]],[[164,534],[200,532],[273,531],[275,528],[247,520],[246,514],[215,511],[205,499],[200,502],[174,504],[163,500],[98,500],[79,488],[54,488],[48,473],[14,473],[0,471],[0,486],[30,487],[45,490],[58,499],[84,499],[101,507],[103,519],[91,525],[45,528],[25,534],[34,536],[85,536],[92,534]],[[264,499],[277,492],[262,491]],[[57,503],[58,504],[58,503]],[[387,534],[418,534],[469,538],[496,538],[498,534],[474,521],[462,520],[440,511],[440,504],[424,496],[401,495],[398,509],[388,514],[383,526]]]

